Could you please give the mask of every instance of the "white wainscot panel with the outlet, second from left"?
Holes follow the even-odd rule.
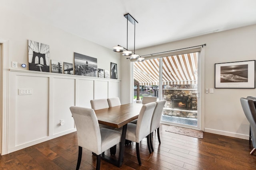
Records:
[[[53,79],[53,127],[54,134],[74,128],[74,119],[70,106],[75,106],[75,80],[69,78]],[[60,119],[64,119],[64,125],[60,125]]]

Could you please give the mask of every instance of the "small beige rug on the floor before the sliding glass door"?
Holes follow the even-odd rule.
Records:
[[[195,130],[195,129],[188,129],[188,128],[185,128],[185,127],[178,127],[178,126],[170,125],[166,131],[167,132],[172,132],[172,133],[177,133],[177,134],[180,134],[180,135],[196,137],[196,138],[200,138],[200,139],[204,138],[204,132],[203,131],[198,131],[198,130]]]

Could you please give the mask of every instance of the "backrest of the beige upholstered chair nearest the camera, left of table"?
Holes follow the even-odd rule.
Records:
[[[100,127],[94,110],[71,106],[70,111],[76,125],[78,146],[101,153]]]

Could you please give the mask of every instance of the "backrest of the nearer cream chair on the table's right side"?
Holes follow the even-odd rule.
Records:
[[[144,104],[140,109],[140,114],[138,116],[137,126],[136,126],[136,141],[139,143],[144,137],[148,136],[150,133],[150,124],[154,109],[156,107],[155,102],[149,104]]]

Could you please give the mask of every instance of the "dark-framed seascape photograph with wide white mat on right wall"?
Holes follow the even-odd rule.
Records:
[[[215,88],[255,88],[255,60],[215,64]]]

